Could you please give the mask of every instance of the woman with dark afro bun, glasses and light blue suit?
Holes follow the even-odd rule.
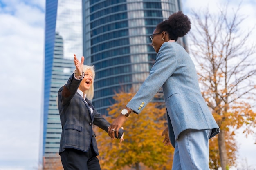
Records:
[[[165,136],[164,145],[175,147],[172,170],[209,170],[209,139],[220,131],[202,97],[195,65],[176,42],[190,29],[191,22],[181,11],[157,24],[150,35],[157,53],[155,64],[138,92],[108,128],[108,135],[114,139],[130,113],[139,114],[162,87],[168,121],[162,136]]]

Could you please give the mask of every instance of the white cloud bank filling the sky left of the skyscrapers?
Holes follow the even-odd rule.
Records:
[[[44,11],[21,1],[1,4],[0,169],[34,170],[41,135]]]

